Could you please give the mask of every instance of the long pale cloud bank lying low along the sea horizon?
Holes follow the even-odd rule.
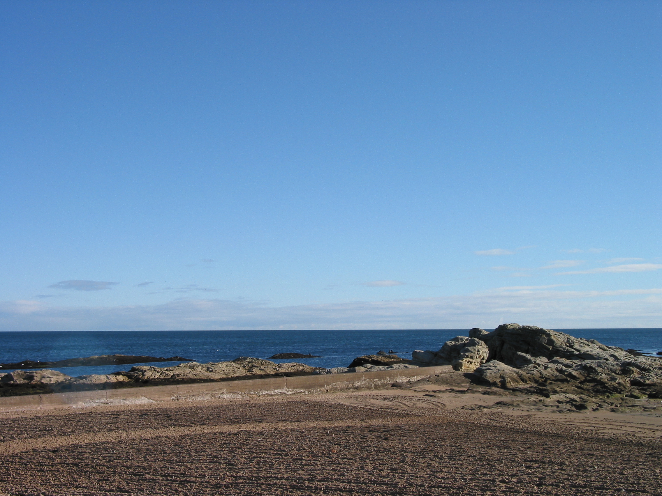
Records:
[[[264,302],[179,299],[115,307],[0,303],[0,329],[491,329],[505,322],[542,327],[662,327],[662,289],[562,291],[510,286],[471,295],[272,308]],[[282,327],[281,327],[282,326]]]

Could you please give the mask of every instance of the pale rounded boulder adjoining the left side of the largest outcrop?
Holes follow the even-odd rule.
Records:
[[[473,329],[472,329],[473,331]],[[473,372],[487,361],[487,345],[477,337],[456,336],[439,351],[412,352],[412,361],[425,365],[451,365],[454,370]]]

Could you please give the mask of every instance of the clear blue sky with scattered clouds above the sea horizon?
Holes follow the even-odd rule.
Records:
[[[662,327],[661,21],[0,2],[0,329]]]

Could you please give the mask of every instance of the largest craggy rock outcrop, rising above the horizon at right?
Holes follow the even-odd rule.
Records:
[[[473,374],[492,386],[542,393],[662,395],[659,358],[634,356],[532,325],[500,325],[479,339],[489,348],[489,361]]]

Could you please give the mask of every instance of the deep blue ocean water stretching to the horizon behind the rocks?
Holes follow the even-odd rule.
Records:
[[[490,331],[491,329],[487,329]],[[648,353],[662,351],[662,329],[556,329],[608,346]],[[379,350],[411,358],[414,350],[438,350],[468,329],[389,331],[54,331],[0,333],[0,363],[55,361],[100,354],[183,356],[197,362],[220,362],[238,356],[268,358],[275,353],[316,354],[321,358],[273,360],[316,367],[348,366],[356,356]],[[150,363],[173,366],[181,362]],[[138,364],[136,364],[138,365]],[[57,368],[69,376],[109,374],[133,365]],[[8,371],[8,370],[7,370]],[[5,370],[3,370],[5,372]]]

